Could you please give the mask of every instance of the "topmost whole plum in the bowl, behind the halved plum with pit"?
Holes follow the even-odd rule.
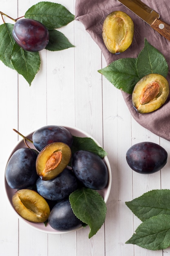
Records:
[[[52,142],[63,142],[71,147],[73,136],[65,127],[55,125],[43,126],[33,133],[33,144],[39,151]]]

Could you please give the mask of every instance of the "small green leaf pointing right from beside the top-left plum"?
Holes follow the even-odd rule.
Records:
[[[55,29],[49,30],[49,43],[46,46],[46,49],[49,51],[60,51],[64,49],[68,49],[70,47],[74,47],[66,36],[62,34],[60,31]]]

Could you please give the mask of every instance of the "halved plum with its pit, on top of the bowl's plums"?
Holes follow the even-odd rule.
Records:
[[[71,159],[70,147],[62,142],[53,142],[43,148],[36,160],[36,171],[42,180],[57,177]]]

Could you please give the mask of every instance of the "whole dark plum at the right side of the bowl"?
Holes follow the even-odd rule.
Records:
[[[72,168],[77,179],[90,189],[104,189],[108,183],[108,169],[98,155],[86,150],[73,154]]]

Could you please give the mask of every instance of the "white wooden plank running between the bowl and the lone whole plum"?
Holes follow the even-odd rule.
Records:
[[[121,92],[104,77],[103,113],[104,148],[112,170],[105,222],[105,253],[106,256],[133,255],[133,246],[125,245],[132,232],[132,214],[125,205],[132,198],[132,174],[126,163],[126,151],[131,142],[131,118]]]

